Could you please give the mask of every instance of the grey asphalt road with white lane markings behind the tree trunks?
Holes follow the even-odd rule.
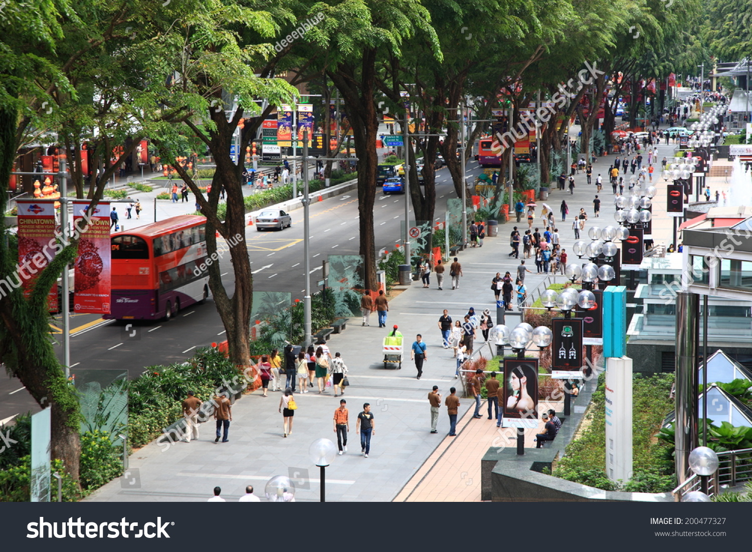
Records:
[[[468,164],[468,175],[480,171],[475,162]],[[455,196],[447,168],[437,172],[436,222],[444,220],[447,199]],[[377,193],[374,207],[376,248],[391,248],[398,243],[400,221],[405,213],[405,196]],[[257,232],[248,226],[246,242],[253,271],[255,291],[288,291],[300,299],[305,288],[303,274],[302,210],[293,211],[293,226],[281,232]],[[357,193],[345,193],[311,204],[311,289],[321,279],[321,261],[329,254],[357,254],[359,223]],[[220,259],[223,283],[232,293],[233,278],[229,256]],[[59,338],[52,329],[53,338]],[[211,298],[205,305],[192,305],[169,322],[122,325],[99,322],[95,315],[71,317],[71,373],[76,369],[125,369],[129,378],[137,378],[144,367],[183,362],[196,347],[224,341],[224,328]],[[62,357],[62,347],[56,345]],[[0,376],[0,425],[26,411],[38,411],[36,402],[16,378]]]

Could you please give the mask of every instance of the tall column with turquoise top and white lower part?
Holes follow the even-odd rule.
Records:
[[[606,475],[632,478],[632,359],[626,356],[626,287],[603,290],[603,356],[606,359]]]

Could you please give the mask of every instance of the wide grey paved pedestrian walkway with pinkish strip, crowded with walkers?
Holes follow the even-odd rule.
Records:
[[[663,156],[663,153],[660,157]],[[605,174],[614,156],[600,157],[594,172]],[[595,184],[587,185],[584,174],[575,177],[575,194],[569,190],[553,190],[547,204],[550,205],[559,226],[562,248],[570,253],[569,260],[577,259],[572,254],[575,241],[571,220],[584,207],[590,219],[589,226],[615,224],[613,219],[613,194],[604,187],[601,194],[601,217],[593,218],[592,199]],[[593,177],[593,182],[595,178]],[[559,204],[565,199],[569,205],[569,217],[560,223]],[[538,202],[541,205],[541,202]],[[536,224],[541,228],[539,217]],[[484,308],[494,311],[493,292],[490,281],[500,271],[514,274],[517,259],[508,256],[509,232],[513,226],[526,229],[526,223],[499,225],[499,236],[487,238],[484,247],[469,248],[459,253],[464,276],[460,289],[451,290],[445,281],[444,290],[436,287],[432,278],[430,289],[414,282],[408,290],[390,301],[387,329],[379,329],[375,315],[371,326],[362,327],[360,318],[350,320],[347,329],[333,335],[329,341],[332,352],[342,353],[350,369],[351,386],[347,389],[350,410],[350,450],[336,456],[326,470],[327,499],[333,501],[391,501],[420,500],[476,500],[480,498],[480,458],[498,435],[493,422],[475,420],[468,414],[472,401],[462,400],[457,438],[447,438],[448,418],[444,407],[439,416],[438,434],[429,433],[429,405],[426,399],[432,385],[447,396],[449,387],[459,387],[453,378],[455,360],[451,350],[441,347],[438,317],[443,308],[450,311],[453,319],[461,319],[469,307],[480,313]],[[533,226],[535,228],[535,225]],[[544,228],[541,228],[541,233]],[[587,240],[587,233],[583,234]],[[656,239],[656,243],[657,243]],[[545,275],[535,274],[535,263],[529,259],[533,274],[528,274],[526,285],[532,291]],[[447,278],[448,279],[448,278]],[[556,278],[565,281],[565,277]],[[508,325],[514,326],[517,317],[509,317]],[[384,369],[381,361],[381,340],[387,330],[398,324],[409,345],[414,335],[421,333],[429,346],[428,359],[424,365],[423,378],[417,381],[409,353],[402,370]],[[482,341],[477,342],[481,346]],[[247,484],[256,487],[262,496],[266,481],[274,475],[295,475],[298,479],[297,500],[318,499],[318,470],[308,459],[308,446],[317,438],[335,441],[332,414],[339,399],[331,394],[317,393],[296,395],[299,410],[296,411],[293,434],[282,437],[282,417],[277,412],[280,393],[269,393],[267,399],[256,391],[244,396],[233,408],[234,422],[230,427],[229,443],[214,443],[214,427],[202,426],[202,437],[190,444],[177,443],[160,447],[156,442],[148,444],[132,454],[132,475],[138,480],[117,480],[105,485],[89,496],[88,501],[203,501],[211,496],[215,485],[223,487],[223,496],[238,499]],[[371,441],[368,459],[359,453],[358,436],[355,435],[355,417],[363,402],[370,402],[376,422],[376,434]],[[557,408],[559,410],[560,408]],[[493,427],[492,427],[493,426]],[[449,442],[453,441],[451,447]],[[532,446],[532,438],[527,439]],[[165,449],[165,450],[162,450]],[[426,463],[426,460],[429,462]],[[134,472],[134,469],[137,470]],[[464,474],[464,475],[463,475]],[[447,479],[448,478],[448,479]],[[472,479],[473,483],[468,484]],[[412,481],[412,483],[411,483]],[[422,483],[420,483],[422,481]],[[447,481],[450,484],[447,484]],[[407,487],[406,487],[407,486]],[[461,488],[462,492],[458,489]]]

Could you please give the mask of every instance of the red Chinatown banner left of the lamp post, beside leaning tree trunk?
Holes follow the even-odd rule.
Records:
[[[34,282],[55,254],[62,249],[57,244],[55,203],[36,199],[19,199],[18,206],[18,273],[17,283],[23,287],[26,299],[32,293]],[[10,279],[11,285],[13,280]],[[8,291],[10,288],[8,287]],[[0,290],[5,293],[5,290]],[[50,312],[57,312],[57,284],[47,296]]]

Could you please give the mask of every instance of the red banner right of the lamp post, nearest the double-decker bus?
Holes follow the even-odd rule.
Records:
[[[89,220],[78,241],[74,262],[74,311],[77,313],[110,313],[110,203],[99,202],[87,214],[89,201],[73,202],[73,223]]]

